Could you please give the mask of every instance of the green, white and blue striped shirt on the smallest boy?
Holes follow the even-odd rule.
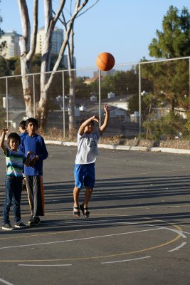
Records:
[[[4,155],[6,156],[6,175],[23,177],[23,163],[26,162],[23,152],[9,150],[6,147]]]

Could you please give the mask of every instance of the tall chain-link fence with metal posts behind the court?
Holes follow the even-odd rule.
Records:
[[[152,146],[190,136],[189,57],[115,65],[108,72],[97,68],[75,70],[74,118],[104,118],[103,105],[110,105],[110,124],[104,140],[111,144]],[[49,75],[51,73],[48,73]],[[33,117],[40,98],[40,73],[29,75]],[[69,72],[57,71],[48,90],[45,138],[68,140],[70,114]],[[21,76],[0,78],[0,126],[18,131],[26,119]],[[73,135],[75,140],[76,133]]]

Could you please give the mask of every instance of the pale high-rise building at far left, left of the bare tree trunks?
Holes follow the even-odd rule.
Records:
[[[12,58],[14,56],[20,56],[21,51],[19,47],[19,38],[21,35],[16,33],[16,31],[8,31],[0,38],[0,43],[6,41],[6,48],[1,52],[1,56],[6,59]]]

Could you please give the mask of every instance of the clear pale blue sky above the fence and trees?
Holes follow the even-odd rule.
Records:
[[[27,0],[26,0],[27,1]],[[67,0],[68,1],[68,0]],[[75,0],[73,0],[75,2]],[[33,0],[28,0],[32,13]],[[53,7],[59,0],[53,0]],[[89,0],[89,7],[95,0]],[[44,26],[43,0],[39,0],[38,27]],[[137,63],[143,57],[152,60],[148,46],[162,31],[162,20],[174,6],[190,12],[189,0],[100,0],[75,21],[75,58],[77,68],[94,67],[99,53],[107,51],[116,64]],[[22,33],[17,0],[1,0],[1,29]],[[56,26],[62,28],[58,23]],[[31,19],[32,27],[32,19]]]

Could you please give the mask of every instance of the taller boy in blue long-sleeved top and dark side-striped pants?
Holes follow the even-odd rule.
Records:
[[[40,224],[39,216],[44,216],[43,160],[48,157],[45,142],[41,135],[36,133],[37,129],[38,121],[35,118],[28,118],[26,120],[28,135],[21,138],[21,145],[19,146],[19,150],[24,155],[30,150],[36,156],[34,167],[24,166],[28,202],[31,207],[31,217],[28,224],[31,226]]]

